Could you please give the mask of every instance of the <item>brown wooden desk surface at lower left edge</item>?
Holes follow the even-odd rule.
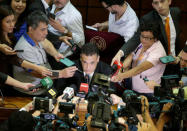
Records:
[[[0,106],[0,122],[7,120],[12,112],[31,101],[32,98],[30,97],[4,97],[4,103]]]

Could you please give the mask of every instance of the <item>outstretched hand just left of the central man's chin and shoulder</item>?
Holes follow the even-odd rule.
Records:
[[[78,70],[76,66],[68,67],[59,72],[59,78],[69,78],[75,74],[75,71]]]

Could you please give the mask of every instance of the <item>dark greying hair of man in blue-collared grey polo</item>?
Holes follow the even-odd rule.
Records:
[[[49,23],[47,16],[42,11],[34,11],[27,17],[27,27],[31,26],[36,29],[40,22]]]

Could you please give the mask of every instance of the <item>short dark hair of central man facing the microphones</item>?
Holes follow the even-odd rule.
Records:
[[[81,54],[85,54],[86,56],[99,55],[99,49],[94,43],[86,43],[82,46]]]

